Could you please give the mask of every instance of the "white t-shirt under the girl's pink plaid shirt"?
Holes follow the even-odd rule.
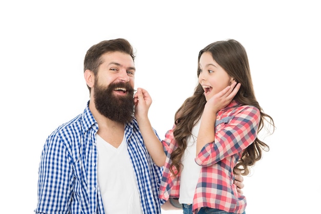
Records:
[[[192,204],[201,166],[195,163],[196,141],[199,131],[200,120],[192,129],[192,135],[187,139],[187,147],[184,151],[180,173],[179,203]]]

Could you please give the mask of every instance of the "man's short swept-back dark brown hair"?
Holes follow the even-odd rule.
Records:
[[[84,60],[84,72],[88,69],[94,72],[94,75],[96,75],[98,72],[99,65],[103,63],[101,56],[104,53],[115,51],[127,53],[132,57],[133,61],[135,61],[135,53],[133,51],[133,47],[127,40],[125,40],[124,38],[116,38],[115,40],[105,40],[96,45],[91,46],[88,49]]]

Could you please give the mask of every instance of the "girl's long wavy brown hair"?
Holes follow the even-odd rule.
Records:
[[[200,73],[199,59],[204,52],[211,53],[216,63],[232,76],[237,83],[241,84],[234,99],[243,105],[251,105],[259,109],[260,121],[258,132],[266,127],[266,125],[271,125],[272,131],[270,133],[273,133],[275,128],[274,121],[270,115],[264,113],[254,95],[248,56],[245,48],[235,40],[218,41],[206,46],[200,50],[198,54],[197,77]],[[171,153],[172,163],[170,166],[170,170],[174,176],[177,176],[179,171],[182,170],[183,165],[181,160],[187,146],[187,139],[192,133],[192,128],[200,119],[205,104],[204,90],[198,83],[195,87],[194,94],[186,99],[175,113],[175,128],[173,134],[178,148]],[[268,124],[266,124],[266,122]],[[249,174],[250,166],[253,166],[256,161],[262,159],[263,150],[269,151],[269,146],[262,140],[256,138],[242,153],[242,157],[238,160],[234,172],[235,169],[239,169],[243,176]],[[173,167],[175,167],[177,171],[174,170]]]

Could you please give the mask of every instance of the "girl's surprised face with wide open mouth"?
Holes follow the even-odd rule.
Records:
[[[231,85],[233,77],[213,60],[210,52],[204,52],[199,59],[200,73],[198,82],[204,89],[206,101]]]

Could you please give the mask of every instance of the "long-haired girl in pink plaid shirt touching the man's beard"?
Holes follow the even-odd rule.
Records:
[[[245,213],[235,170],[249,174],[269,149],[257,134],[265,122],[274,131],[273,119],[255,98],[247,53],[237,41],[200,50],[197,76],[194,94],[176,111],[162,141],[165,152],[148,120],[150,95],[139,88],[134,97],[146,147],[157,165],[165,163],[159,197],[178,198],[184,214]]]

